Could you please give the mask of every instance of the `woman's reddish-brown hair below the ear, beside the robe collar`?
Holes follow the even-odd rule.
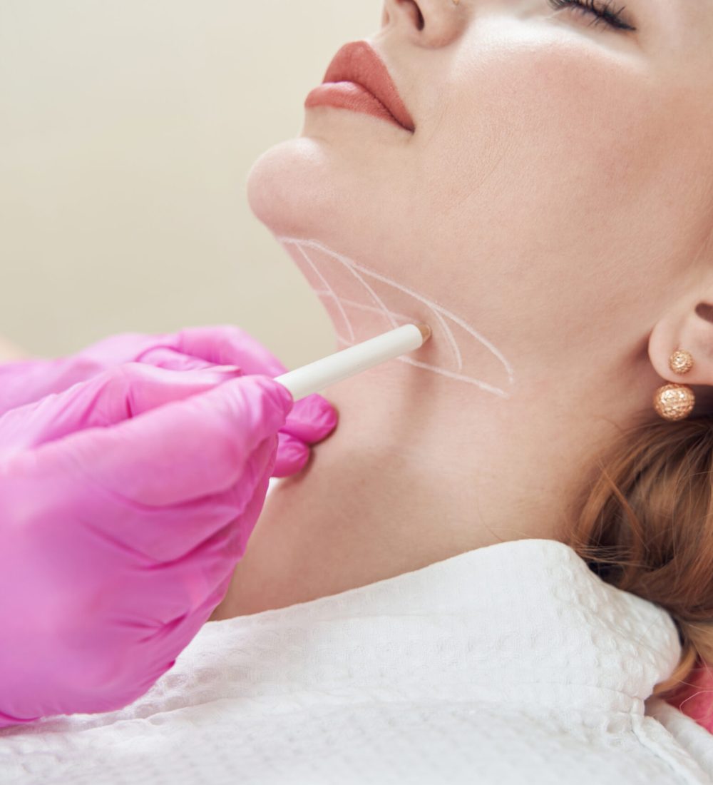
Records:
[[[678,629],[681,659],[653,695],[713,732],[713,417],[621,433],[598,458],[581,509],[567,544]],[[695,709],[682,706],[693,696]]]

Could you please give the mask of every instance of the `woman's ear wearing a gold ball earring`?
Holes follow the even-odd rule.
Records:
[[[671,371],[668,360],[676,349],[693,356],[687,374]],[[713,385],[713,290],[710,297],[668,312],[649,336],[649,360],[666,382],[686,385]]]

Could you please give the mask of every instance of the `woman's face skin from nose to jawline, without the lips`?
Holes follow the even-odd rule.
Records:
[[[434,326],[405,288],[444,305],[515,371],[628,351],[713,263],[713,0],[624,2],[635,31],[549,0],[386,0],[368,40],[415,131],[307,108],[253,166],[253,211],[402,284],[379,284],[395,312]],[[374,318],[343,265],[294,255],[338,332],[345,308]]]

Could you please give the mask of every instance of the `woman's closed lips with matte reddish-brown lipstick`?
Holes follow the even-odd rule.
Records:
[[[411,133],[415,130],[384,60],[368,41],[345,44],[336,53],[322,85],[304,101],[305,108],[320,105],[361,111]]]

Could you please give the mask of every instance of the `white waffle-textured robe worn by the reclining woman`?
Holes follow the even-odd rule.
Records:
[[[0,783],[711,783],[667,612],[525,539],[207,623],[124,710],[0,731]],[[646,701],[646,703],[645,703]]]

